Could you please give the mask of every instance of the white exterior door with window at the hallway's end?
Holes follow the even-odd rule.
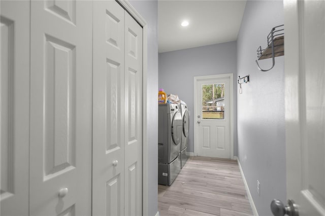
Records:
[[[195,77],[194,154],[233,158],[232,74]]]

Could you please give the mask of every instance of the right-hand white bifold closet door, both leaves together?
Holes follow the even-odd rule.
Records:
[[[142,215],[142,27],[93,2],[92,214]]]

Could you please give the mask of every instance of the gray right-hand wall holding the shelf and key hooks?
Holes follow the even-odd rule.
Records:
[[[272,199],[286,200],[284,57],[276,57],[267,72],[255,64],[256,49],[265,48],[271,28],[281,24],[282,1],[247,1],[237,40],[238,76],[250,75],[237,95],[238,157],[259,215],[272,215]],[[260,62],[268,68],[272,60]]]

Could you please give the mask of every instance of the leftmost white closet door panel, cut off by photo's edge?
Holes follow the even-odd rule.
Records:
[[[0,214],[28,215],[30,3],[0,4]]]

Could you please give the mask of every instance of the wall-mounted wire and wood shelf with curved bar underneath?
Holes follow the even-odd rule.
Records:
[[[272,58],[272,69],[275,64],[275,57],[284,55],[284,25],[275,26],[272,28],[271,32],[268,34],[267,42],[268,46],[266,49],[262,49],[261,46],[258,47],[257,51],[257,60]],[[259,70],[268,71],[270,69],[262,69],[259,67],[258,62],[256,64]]]

